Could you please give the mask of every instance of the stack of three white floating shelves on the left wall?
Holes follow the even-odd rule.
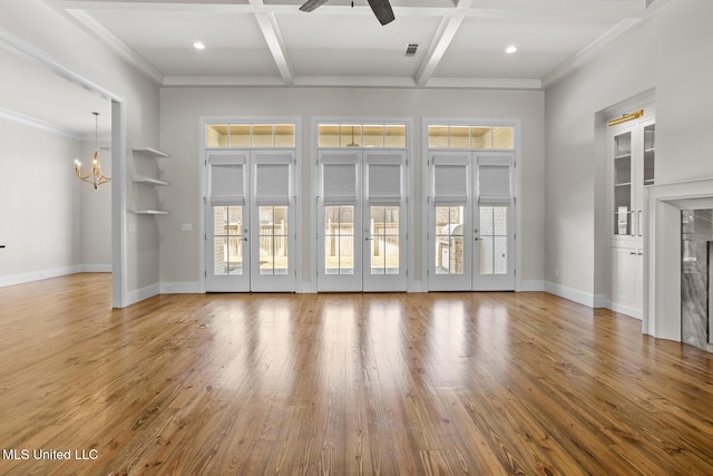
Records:
[[[157,186],[168,186],[168,182],[160,179],[160,168],[155,159],[167,158],[168,154],[153,147],[135,147],[134,182],[135,208],[137,215],[167,215],[168,212],[158,206]]]

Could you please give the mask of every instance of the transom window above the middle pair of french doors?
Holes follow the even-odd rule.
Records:
[[[320,124],[320,147],[406,148],[406,124]]]

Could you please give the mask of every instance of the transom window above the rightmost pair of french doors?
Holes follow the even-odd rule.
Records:
[[[511,150],[510,126],[428,126],[429,148]]]

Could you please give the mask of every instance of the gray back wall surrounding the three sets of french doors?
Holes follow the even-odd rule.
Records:
[[[421,250],[424,226],[421,223],[421,119],[423,117],[518,119],[521,120],[521,176],[524,262],[519,270],[525,281],[541,285],[544,252],[544,95],[541,91],[468,91],[358,88],[165,88],[160,93],[160,146],[172,155],[165,164],[165,178],[172,183],[162,190],[162,201],[172,214],[159,222],[162,234],[160,280],[185,285],[198,282],[201,116],[299,116],[302,117],[302,187],[303,236],[312,236],[311,216],[312,164],[310,159],[311,122],[321,116],[407,117],[413,119],[416,134],[416,186],[411,206],[416,206],[416,263],[411,270],[423,270]],[[180,232],[182,223],[194,225],[193,233]],[[300,252],[304,263],[313,262],[312,243],[303,240]],[[311,276],[302,269],[302,282]]]

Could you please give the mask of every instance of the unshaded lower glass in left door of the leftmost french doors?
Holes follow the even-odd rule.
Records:
[[[213,207],[213,270],[215,275],[243,274],[243,207]]]

